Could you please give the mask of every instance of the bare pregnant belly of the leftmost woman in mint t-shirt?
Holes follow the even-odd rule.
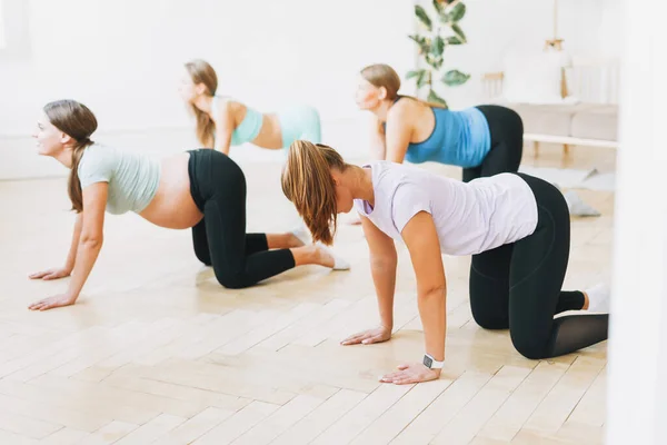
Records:
[[[188,161],[190,155],[182,152],[166,157],[160,164],[160,185],[156,196],[140,216],[168,229],[187,229],[201,220],[190,194]]]

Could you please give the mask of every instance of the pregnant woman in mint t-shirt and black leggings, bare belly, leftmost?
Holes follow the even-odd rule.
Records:
[[[252,286],[299,265],[349,267],[325,246],[306,246],[292,233],[247,234],[246,179],[228,156],[202,148],[153,159],[94,144],[96,129],[92,111],[74,100],[47,103],[38,122],[38,152],[70,169],[68,191],[77,220],[64,265],[30,276],[71,274],[68,290],[30,309],[74,304],[102,247],[106,211],[132,211],[170,229],[191,228],[197,258],[212,266],[228,288]]]

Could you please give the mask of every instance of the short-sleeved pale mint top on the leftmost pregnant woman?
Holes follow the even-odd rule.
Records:
[[[86,148],[77,171],[82,190],[94,182],[109,184],[107,211],[113,215],[141,212],[160,185],[157,159],[99,144]]]

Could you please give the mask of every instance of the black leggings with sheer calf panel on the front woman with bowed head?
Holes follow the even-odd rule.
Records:
[[[517,174],[532,189],[538,207],[535,233],[472,256],[470,308],[477,324],[507,329],[528,358],[568,354],[607,339],[609,315],[568,315],[584,306],[580,291],[560,290],[570,245],[565,198],[550,184]]]

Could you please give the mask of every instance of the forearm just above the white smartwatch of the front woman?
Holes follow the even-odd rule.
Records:
[[[438,362],[445,359],[445,336],[447,334],[446,301],[446,287],[430,289],[418,297],[426,353],[430,354]]]

